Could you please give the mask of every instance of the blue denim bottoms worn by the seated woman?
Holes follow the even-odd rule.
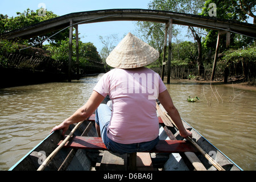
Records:
[[[100,126],[101,138],[108,148],[112,152],[118,154],[129,154],[133,152],[150,151],[159,142],[159,137],[149,142],[122,144],[114,142],[108,138],[107,129],[112,116],[112,111],[106,104],[100,104],[96,110],[95,122]]]

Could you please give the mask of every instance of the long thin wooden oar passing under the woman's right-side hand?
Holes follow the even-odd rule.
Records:
[[[174,124],[174,126],[177,128],[177,126],[175,125],[174,121],[172,121],[172,118],[170,117],[170,115],[168,115],[167,113],[164,112],[164,114],[166,115],[166,117],[168,119],[170,119],[170,121],[172,122],[172,124]],[[197,150],[199,150],[199,152],[201,152],[201,154],[203,154],[205,156],[205,158],[207,158],[209,160],[210,163],[213,164],[214,167],[216,167],[216,169],[218,169],[219,171],[225,171],[224,168],[222,168],[220,166],[220,164],[218,164],[215,160],[213,160],[213,158],[211,158],[207,152],[205,152],[203,150],[203,148],[201,148],[191,137],[186,137],[185,139],[189,140],[189,142],[191,142],[196,148]]]

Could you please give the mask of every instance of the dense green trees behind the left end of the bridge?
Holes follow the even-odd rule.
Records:
[[[8,17],[7,15],[0,15],[0,33],[18,30],[26,26],[31,26],[44,20],[56,18],[57,15],[53,14],[52,11],[46,10],[46,15],[40,15],[40,9],[33,11],[27,9],[23,13],[17,12],[16,17]],[[18,48],[17,43],[23,45],[36,45],[39,44],[39,48],[43,48],[51,52],[52,59],[59,60],[60,63],[68,64],[68,50],[69,50],[69,30],[68,28],[64,31],[59,32],[59,34],[48,39],[48,44],[42,45],[42,40],[47,39],[55,32],[49,32],[45,35],[36,36],[29,40],[15,40],[16,43],[10,42],[9,40],[1,40],[0,42],[0,60],[1,65],[7,64],[7,59],[5,55],[16,51]],[[76,40],[72,40],[73,52],[76,52]],[[72,62],[76,63],[76,54],[73,53]],[[79,41],[79,64],[80,68],[90,65],[92,62],[100,62],[101,57],[97,52],[97,48],[92,43],[82,43]]]

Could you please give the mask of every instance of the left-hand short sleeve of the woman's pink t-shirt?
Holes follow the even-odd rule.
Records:
[[[97,82],[96,86],[93,88],[94,91],[98,92],[102,96],[106,97],[109,94],[109,77],[108,73],[105,73],[100,80]]]

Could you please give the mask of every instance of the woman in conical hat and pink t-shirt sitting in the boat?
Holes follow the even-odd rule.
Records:
[[[63,129],[64,134],[69,125],[84,121],[96,111],[96,130],[109,150],[120,154],[148,151],[159,141],[158,98],[181,137],[192,137],[159,75],[144,67],[158,57],[154,48],[127,34],[106,59],[114,69],[101,77],[86,104],[52,131]],[[112,100],[111,109],[101,104],[107,95]]]

